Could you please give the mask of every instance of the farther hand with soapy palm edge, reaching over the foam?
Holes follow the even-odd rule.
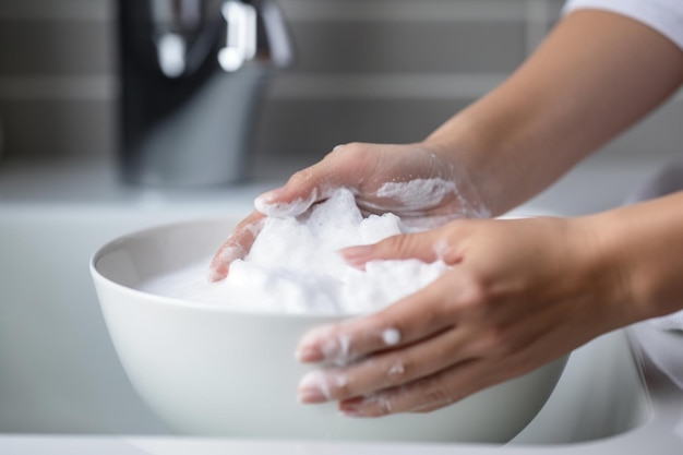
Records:
[[[465,166],[428,144],[352,143],[336,147],[320,163],[295,173],[287,184],[255,201],[249,215],[220,247],[212,279],[226,277],[229,264],[249,252],[266,215],[297,216],[344,187],[366,214],[393,212],[411,228],[427,228],[459,217],[489,215]]]

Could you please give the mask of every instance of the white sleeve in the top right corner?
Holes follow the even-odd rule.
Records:
[[[563,14],[579,9],[623,14],[652,27],[683,50],[683,0],[568,0]]]

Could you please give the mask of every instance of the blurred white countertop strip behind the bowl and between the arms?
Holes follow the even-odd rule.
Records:
[[[525,205],[563,215],[606,209],[621,204],[633,188],[662,165],[647,159],[614,163],[591,158]],[[172,203],[200,207],[237,205],[251,211],[254,196],[284,181],[285,178],[226,187],[161,189],[122,184],[107,163],[0,163],[0,206]]]

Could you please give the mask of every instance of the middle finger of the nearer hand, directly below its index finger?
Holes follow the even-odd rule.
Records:
[[[475,356],[471,334],[444,331],[421,343],[360,360],[344,368],[316,370],[299,383],[302,403],[344,400],[430,376]]]

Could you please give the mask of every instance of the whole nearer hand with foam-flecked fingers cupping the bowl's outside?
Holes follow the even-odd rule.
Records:
[[[343,251],[373,260],[442,259],[451,268],[375,314],[323,326],[298,348],[302,403],[342,412],[423,412],[527,373],[630,318],[588,218],[462,219]]]

